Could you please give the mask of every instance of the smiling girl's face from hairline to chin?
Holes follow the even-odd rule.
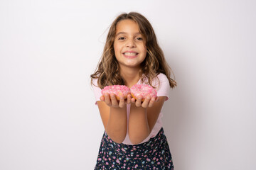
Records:
[[[130,19],[119,21],[114,38],[114,55],[123,67],[139,67],[146,57],[145,40],[139,26]]]

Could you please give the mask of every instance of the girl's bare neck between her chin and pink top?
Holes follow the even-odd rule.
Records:
[[[120,67],[120,74],[124,79],[124,83],[129,88],[132,87],[134,84],[137,84],[139,81],[139,67]]]

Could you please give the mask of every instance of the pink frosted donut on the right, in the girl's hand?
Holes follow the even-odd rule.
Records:
[[[145,100],[146,96],[156,97],[156,89],[147,84],[135,84],[131,87],[132,97],[137,100],[139,96],[142,96],[142,101]]]

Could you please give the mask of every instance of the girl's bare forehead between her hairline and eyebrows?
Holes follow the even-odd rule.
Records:
[[[116,26],[116,35],[117,34],[138,34],[139,33],[139,26],[135,21],[131,19],[125,19],[119,21]]]

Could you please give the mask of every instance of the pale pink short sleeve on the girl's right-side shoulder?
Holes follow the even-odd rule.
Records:
[[[157,96],[166,96],[166,101],[169,99],[169,80],[167,79],[165,74],[160,73],[158,76],[160,84],[158,79],[154,79],[154,86],[156,87]]]

